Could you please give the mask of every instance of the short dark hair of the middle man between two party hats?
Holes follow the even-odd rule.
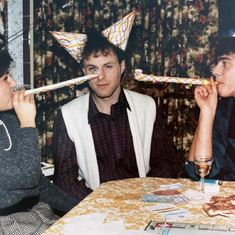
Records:
[[[104,56],[114,53],[118,57],[119,63],[125,60],[125,51],[113,45],[101,33],[91,31],[87,34],[87,42],[82,52],[82,58],[89,59],[91,55],[99,57],[99,53]]]

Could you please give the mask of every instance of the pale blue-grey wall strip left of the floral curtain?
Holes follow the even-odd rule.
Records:
[[[18,84],[31,88],[34,84],[33,50],[30,48],[33,46],[32,7],[33,1],[30,0],[7,1],[7,48],[15,61],[10,73]]]

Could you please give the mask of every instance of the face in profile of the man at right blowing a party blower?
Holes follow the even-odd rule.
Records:
[[[235,97],[235,54],[218,57],[218,64],[213,69],[218,82],[218,93],[221,97]]]

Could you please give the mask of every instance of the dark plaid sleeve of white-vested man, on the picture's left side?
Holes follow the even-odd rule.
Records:
[[[92,192],[85,180],[78,180],[78,165],[74,143],[68,136],[61,111],[54,122],[54,184],[71,197],[81,201]]]

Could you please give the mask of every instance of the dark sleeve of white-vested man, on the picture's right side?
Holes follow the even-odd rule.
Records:
[[[175,150],[163,124],[161,112],[157,109],[152,134],[150,155],[150,171],[147,176],[175,178],[177,177],[178,161]]]

